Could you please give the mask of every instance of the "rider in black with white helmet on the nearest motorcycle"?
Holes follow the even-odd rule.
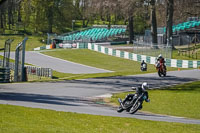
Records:
[[[127,100],[131,100],[132,98],[137,98],[138,96],[140,96],[142,93],[144,93],[144,95],[146,95],[146,99],[145,101],[146,102],[149,102],[149,95],[148,95],[148,92],[146,91],[147,89],[149,88],[149,85],[147,84],[147,82],[144,82],[142,83],[142,85],[140,87],[136,87],[134,89],[136,89],[136,93],[135,94],[128,94],[126,96],[126,98],[120,103],[121,106],[123,107],[124,103],[127,101]],[[142,109],[142,106],[140,107],[140,109]]]

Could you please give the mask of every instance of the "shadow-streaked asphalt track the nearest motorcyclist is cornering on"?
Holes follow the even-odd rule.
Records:
[[[196,80],[200,80],[200,70],[168,72],[168,76],[163,78],[158,77],[155,73],[48,83],[0,84],[0,104],[93,115],[200,124],[200,120],[180,117],[141,112],[134,115],[126,112],[117,113],[116,108],[94,102],[98,97],[105,97],[111,93],[129,91],[131,90],[131,86],[137,86],[144,81],[148,82],[151,88],[157,88]]]

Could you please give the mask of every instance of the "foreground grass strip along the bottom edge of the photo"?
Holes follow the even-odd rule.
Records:
[[[1,133],[190,133],[200,125],[56,112],[0,105]]]

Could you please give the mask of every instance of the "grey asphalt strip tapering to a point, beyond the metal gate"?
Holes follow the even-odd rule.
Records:
[[[0,53],[3,55],[3,53]],[[85,73],[106,73],[112,72],[100,68],[90,67],[59,58],[47,56],[39,52],[26,51],[25,62],[44,68],[51,68],[55,71],[62,73],[72,73],[72,74],[85,74]],[[10,53],[10,57],[15,59],[15,52]]]

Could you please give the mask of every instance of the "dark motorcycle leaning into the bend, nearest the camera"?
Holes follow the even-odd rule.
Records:
[[[142,93],[141,95],[137,96],[134,94],[132,97],[128,98],[124,103],[119,98],[118,102],[120,103],[120,106],[117,109],[118,113],[121,113],[122,111],[126,110],[130,114],[136,113],[138,110],[142,109],[143,101],[147,101],[147,96],[145,93]]]

